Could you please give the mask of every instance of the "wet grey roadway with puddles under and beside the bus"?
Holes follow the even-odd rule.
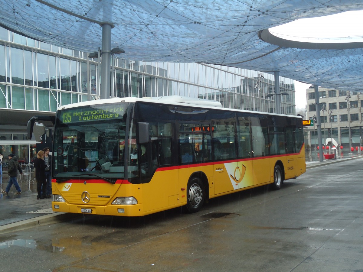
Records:
[[[282,190],[224,195],[193,214],[178,208],[139,218],[73,214],[0,234],[0,269],[362,271],[362,164],[363,156],[308,162],[306,173]]]

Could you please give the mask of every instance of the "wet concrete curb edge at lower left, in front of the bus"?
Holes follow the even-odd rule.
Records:
[[[73,216],[71,213],[54,213],[46,214],[39,217],[26,219],[23,221],[10,223],[4,226],[0,226],[0,234],[5,234],[8,232],[15,232],[20,230],[26,230],[27,228],[46,226],[50,224],[60,223],[66,219]]]

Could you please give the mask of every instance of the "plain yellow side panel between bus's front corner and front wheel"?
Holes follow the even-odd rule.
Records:
[[[143,184],[144,212],[178,203],[178,169],[159,168],[151,181]]]

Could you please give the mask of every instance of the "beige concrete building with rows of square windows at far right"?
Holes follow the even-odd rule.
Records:
[[[323,145],[331,141],[331,138],[344,150],[350,150],[349,134],[351,135],[351,146],[362,145],[362,122],[363,122],[363,96],[358,92],[346,90],[335,90],[319,88],[319,109],[322,129]],[[316,119],[314,86],[306,90],[307,119]],[[350,133],[349,133],[350,128]],[[317,125],[308,128],[309,145],[311,148],[318,146]],[[334,141],[333,141],[334,142]]]

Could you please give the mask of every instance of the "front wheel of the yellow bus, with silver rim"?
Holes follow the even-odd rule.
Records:
[[[205,190],[200,178],[194,177],[188,182],[187,210],[196,213],[201,209],[205,200]]]

